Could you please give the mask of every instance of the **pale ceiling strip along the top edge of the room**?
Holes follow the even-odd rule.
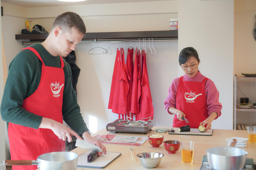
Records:
[[[3,3],[13,4],[23,7],[42,7],[42,6],[68,6],[68,5],[91,5],[91,4],[113,4],[131,2],[153,2],[159,0],[87,0],[84,2],[60,2],[57,0],[1,0]],[[161,0],[170,1],[170,0]]]

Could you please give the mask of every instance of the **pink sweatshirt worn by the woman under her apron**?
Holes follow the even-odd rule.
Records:
[[[202,75],[200,71],[198,71],[198,73],[196,73],[195,77],[193,78],[189,78],[185,74],[183,76],[183,81],[202,82],[204,78],[205,76]],[[180,78],[176,78],[172,81],[172,84],[168,90],[168,96],[164,101],[165,109],[169,114],[171,114],[168,111],[169,107],[176,108],[176,95],[177,95],[177,89],[179,86],[179,81],[180,81]],[[215,118],[217,119],[221,115],[222,105],[221,103],[219,103],[219,91],[217,90],[214,82],[210,79],[208,79],[205,82],[205,94],[206,94],[206,103],[207,103],[207,110],[208,110],[207,114],[210,116],[212,112],[217,112],[218,116]]]

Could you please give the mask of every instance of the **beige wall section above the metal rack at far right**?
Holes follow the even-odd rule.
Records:
[[[256,73],[256,41],[252,36],[255,16],[256,1],[235,1],[234,74]]]

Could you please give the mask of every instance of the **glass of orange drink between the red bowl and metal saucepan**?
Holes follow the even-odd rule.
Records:
[[[183,163],[193,163],[194,141],[181,142],[181,157]]]

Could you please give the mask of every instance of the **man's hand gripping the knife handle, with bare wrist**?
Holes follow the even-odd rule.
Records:
[[[72,141],[71,135],[76,137],[77,139],[81,140],[82,138],[79,137],[79,135],[68,128],[67,126],[63,125],[62,123],[59,123],[57,121],[54,121],[50,118],[43,117],[41,124],[39,125],[39,128],[43,129],[51,129],[57,137],[63,141],[68,140],[68,142]]]

